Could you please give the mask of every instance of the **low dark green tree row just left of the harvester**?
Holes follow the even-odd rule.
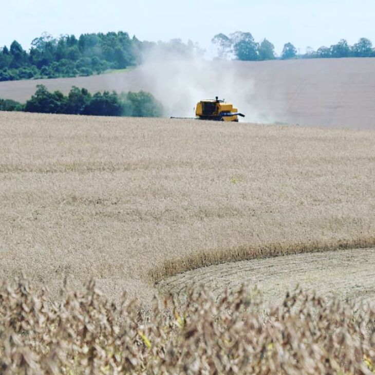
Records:
[[[85,88],[73,86],[65,96],[61,91],[50,92],[37,85],[34,95],[25,104],[0,99],[0,110],[48,114],[161,117],[162,105],[151,93],[97,92],[91,95]]]

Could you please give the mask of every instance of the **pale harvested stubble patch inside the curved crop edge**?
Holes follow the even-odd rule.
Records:
[[[162,292],[183,298],[186,289],[208,286],[215,295],[245,283],[257,287],[265,302],[282,301],[296,285],[349,301],[375,298],[375,248],[297,254],[225,263],[184,272],[159,284]]]

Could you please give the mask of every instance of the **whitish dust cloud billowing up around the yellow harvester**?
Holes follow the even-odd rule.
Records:
[[[245,122],[272,122],[253,105],[254,80],[243,79],[235,62],[189,59],[145,59],[138,68],[141,81],[164,106],[165,116],[195,117],[196,103],[202,99],[224,99],[245,114]]]

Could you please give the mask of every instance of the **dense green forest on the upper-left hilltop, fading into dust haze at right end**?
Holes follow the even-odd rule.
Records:
[[[90,76],[136,66],[147,52],[156,49],[160,54],[173,52],[183,57],[199,50],[190,41],[141,42],[123,31],[81,34],[78,38],[62,35],[58,39],[44,33],[32,41],[29,51],[17,41],[10,48],[0,48],[0,81]]]

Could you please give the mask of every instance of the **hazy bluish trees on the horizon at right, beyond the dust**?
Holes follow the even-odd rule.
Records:
[[[260,43],[255,42],[250,32],[236,31],[232,34],[216,34],[211,42],[217,46],[217,58],[224,60],[234,57],[242,61],[264,61],[275,59],[319,59],[319,58],[348,58],[375,57],[375,48],[367,38],[361,38],[358,43],[350,46],[345,39],[330,47],[320,47],[316,51],[307,48],[305,54],[298,54],[292,43],[286,43],[280,57],[277,57],[275,46],[266,38]]]

